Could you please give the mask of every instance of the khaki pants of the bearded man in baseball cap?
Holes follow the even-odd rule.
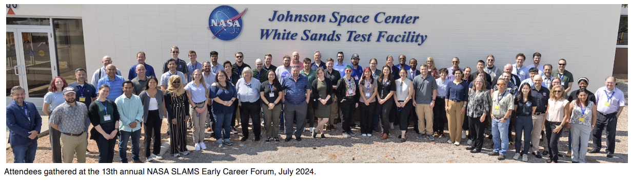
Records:
[[[64,163],[73,163],[74,154],[77,156],[77,163],[85,163],[85,150],[88,149],[88,134],[81,136],[68,136],[61,134],[61,155]]]

